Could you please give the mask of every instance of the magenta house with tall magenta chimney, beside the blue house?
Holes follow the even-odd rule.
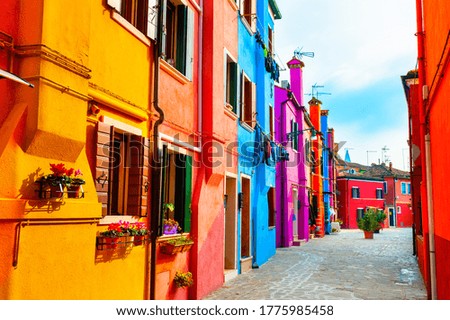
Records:
[[[302,68],[293,58],[288,62],[290,86],[275,86],[275,139],[289,153],[289,160],[276,167],[277,247],[299,245],[309,239],[309,198],[305,145],[309,131],[304,131]]]

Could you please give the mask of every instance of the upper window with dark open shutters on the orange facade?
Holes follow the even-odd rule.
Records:
[[[165,31],[160,41],[161,54],[169,64],[192,80],[194,12],[181,0],[167,1],[164,9],[163,30]]]

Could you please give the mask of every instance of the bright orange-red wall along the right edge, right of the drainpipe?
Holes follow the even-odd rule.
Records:
[[[437,297],[450,299],[450,180],[448,137],[450,136],[450,2],[424,0],[425,76],[430,88],[425,109],[431,139],[431,175],[435,224]],[[441,60],[442,59],[442,60]],[[419,70],[420,72],[420,70]]]

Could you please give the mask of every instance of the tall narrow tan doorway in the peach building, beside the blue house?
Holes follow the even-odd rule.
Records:
[[[224,190],[225,209],[225,281],[237,275],[236,240],[237,240],[237,192],[236,177],[226,176]]]

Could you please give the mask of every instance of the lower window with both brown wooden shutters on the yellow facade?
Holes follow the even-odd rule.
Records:
[[[98,123],[95,180],[104,216],[147,214],[148,152],[148,139]]]

